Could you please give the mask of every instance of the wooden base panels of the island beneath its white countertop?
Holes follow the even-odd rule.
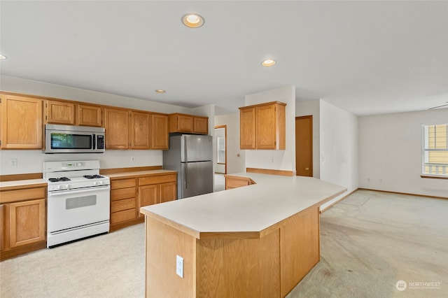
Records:
[[[285,297],[319,261],[318,222],[312,207],[260,239],[196,239],[146,216],[146,297]]]

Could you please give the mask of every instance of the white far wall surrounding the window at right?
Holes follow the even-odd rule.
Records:
[[[359,187],[448,197],[448,180],[421,178],[422,125],[448,122],[448,109],[359,118]]]

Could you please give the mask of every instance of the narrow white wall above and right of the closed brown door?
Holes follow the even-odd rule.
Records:
[[[313,116],[313,177],[321,177],[321,100],[295,101],[295,115]]]

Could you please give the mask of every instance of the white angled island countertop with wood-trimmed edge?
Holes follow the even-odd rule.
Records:
[[[217,234],[260,238],[286,218],[346,192],[345,187],[311,177],[261,173],[228,176],[251,178],[256,184],[145,206],[140,211],[197,239]]]

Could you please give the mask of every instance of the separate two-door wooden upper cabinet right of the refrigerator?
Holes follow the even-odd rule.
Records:
[[[239,108],[240,148],[284,150],[285,106],[279,101],[273,101]]]

